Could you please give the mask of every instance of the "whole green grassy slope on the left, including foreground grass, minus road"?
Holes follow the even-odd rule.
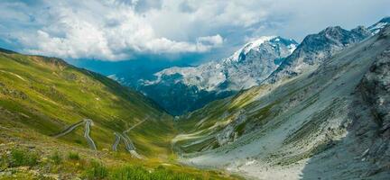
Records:
[[[176,164],[170,143],[176,134],[171,115],[144,95],[59,58],[25,56],[0,49],[0,117],[0,171],[14,175],[0,175],[0,179],[43,178],[39,176],[42,174],[73,178],[88,173],[94,159],[107,166],[107,177],[118,171],[126,175],[128,172],[120,166],[140,165],[154,171],[164,165],[167,170],[161,174],[168,175],[166,178],[183,173],[188,174],[182,175],[184,179],[236,179]],[[94,121],[91,137],[98,146],[97,152],[88,149],[81,127],[60,139],[51,137],[86,118]],[[128,135],[137,152],[148,158],[132,158],[122,144],[119,152],[112,152],[113,132],[126,130],[144,118],[147,121]],[[12,167],[13,149],[32,152],[26,156],[39,155],[37,163],[27,170]],[[58,165],[51,160],[56,151],[63,159]],[[67,159],[69,152],[78,152],[81,159]],[[140,172],[151,176],[142,169]]]

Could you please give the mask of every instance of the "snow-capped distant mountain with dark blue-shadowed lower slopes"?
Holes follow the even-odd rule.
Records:
[[[231,57],[198,67],[170,67],[142,80],[138,90],[178,115],[213,100],[259,85],[297,46],[295,40],[262,37],[247,43]]]

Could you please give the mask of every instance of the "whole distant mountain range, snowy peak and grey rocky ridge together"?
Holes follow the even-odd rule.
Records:
[[[329,27],[308,35],[301,44],[282,37],[261,37],[248,42],[228,58],[198,67],[169,67],[152,78],[139,80],[121,75],[111,77],[141,91],[167,112],[180,115],[237,94],[241,89],[264,81],[274,83],[318,67],[323,59],[377,33],[389,22],[386,17],[368,28],[358,26],[351,31],[339,26]]]

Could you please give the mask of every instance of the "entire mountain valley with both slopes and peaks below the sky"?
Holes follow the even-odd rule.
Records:
[[[0,49],[0,179],[388,179],[389,20],[130,87]]]

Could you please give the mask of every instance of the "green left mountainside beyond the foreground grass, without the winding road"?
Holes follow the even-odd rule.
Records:
[[[168,152],[163,142],[169,144],[165,137],[173,132],[172,117],[143,94],[60,58],[5,49],[0,50],[0,114],[1,126],[46,136],[90,119],[91,137],[100,150],[111,148],[115,131],[147,118],[128,134],[144,156],[153,155],[151,149]],[[60,140],[88,147],[84,136],[76,130]]]

